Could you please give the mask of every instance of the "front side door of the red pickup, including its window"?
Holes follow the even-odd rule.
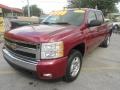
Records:
[[[89,11],[87,16],[87,24],[89,24],[93,20],[97,20],[96,14],[94,11]],[[86,38],[87,38],[86,39],[87,51],[89,53],[98,46],[97,45],[97,42],[99,41],[98,26],[88,27]]]

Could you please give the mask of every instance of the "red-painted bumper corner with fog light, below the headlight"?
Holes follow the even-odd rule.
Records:
[[[54,60],[41,60],[37,64],[37,74],[41,79],[56,79],[66,73],[67,57]]]

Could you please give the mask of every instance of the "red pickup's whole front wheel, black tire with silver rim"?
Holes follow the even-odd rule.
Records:
[[[81,70],[82,65],[82,54],[77,50],[72,50],[68,58],[68,65],[64,80],[66,82],[74,81]]]

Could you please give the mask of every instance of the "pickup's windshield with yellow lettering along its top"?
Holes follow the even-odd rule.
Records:
[[[81,25],[84,19],[84,12],[67,11],[64,15],[50,15],[43,20],[43,24],[70,24]]]

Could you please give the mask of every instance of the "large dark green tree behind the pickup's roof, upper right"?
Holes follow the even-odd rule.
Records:
[[[72,8],[98,8],[106,15],[111,12],[118,12],[116,3],[120,0],[71,0],[69,7]]]

